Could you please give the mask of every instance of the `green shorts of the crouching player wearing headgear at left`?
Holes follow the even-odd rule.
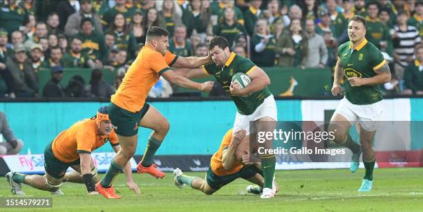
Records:
[[[51,144],[53,144],[53,142],[50,142],[50,144],[48,144],[44,150],[44,169],[50,176],[61,179],[66,174],[68,168],[73,165],[79,165],[80,160],[78,158],[78,160],[75,160],[71,163],[62,162],[61,160],[57,159],[55,154],[53,154]]]

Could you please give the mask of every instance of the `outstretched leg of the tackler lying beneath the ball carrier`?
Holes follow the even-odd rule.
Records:
[[[192,177],[188,175],[184,175],[179,168],[173,170],[174,182],[175,185],[182,189],[185,184],[191,186],[191,188],[201,191],[207,195],[212,195],[217,190],[213,189],[212,187],[207,184],[207,180],[203,180],[200,177]]]

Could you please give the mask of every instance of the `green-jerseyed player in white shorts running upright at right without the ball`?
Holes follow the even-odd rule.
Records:
[[[345,96],[341,99],[329,124],[329,131],[335,132],[333,141],[350,148],[353,152],[351,172],[357,171],[359,157],[363,153],[366,174],[359,192],[371,191],[373,188],[376,155],[372,143],[376,133],[375,122],[382,113],[382,93],[379,84],[391,81],[391,70],[382,53],[366,40],[365,35],[366,19],[355,15],[348,21],[350,41],[338,48],[338,61],[332,86],[332,95],[342,95],[344,91],[340,83],[344,78]],[[360,126],[361,145],[355,143],[347,133],[357,121]]]

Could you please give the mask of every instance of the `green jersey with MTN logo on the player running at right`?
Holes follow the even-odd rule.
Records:
[[[373,104],[382,100],[379,85],[351,87],[348,77],[370,78],[375,70],[386,64],[384,56],[375,45],[364,39],[354,50],[350,41],[338,48],[338,57],[345,71],[346,98],[353,104]]]

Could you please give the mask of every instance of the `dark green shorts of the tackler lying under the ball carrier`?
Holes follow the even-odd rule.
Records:
[[[233,173],[232,175],[218,176],[212,171],[212,168],[209,167],[209,170],[206,174],[206,180],[207,184],[209,184],[210,187],[218,190],[229,182],[232,182],[238,178],[243,178],[247,180],[248,178],[253,177],[257,173],[261,174],[261,171],[259,171],[256,166],[244,166],[243,168],[241,168],[240,171]]]

